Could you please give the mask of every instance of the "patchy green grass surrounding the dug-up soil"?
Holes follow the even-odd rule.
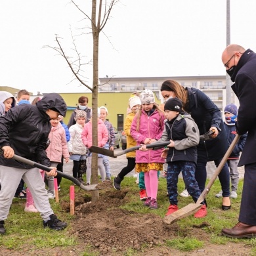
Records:
[[[160,178],[159,180],[159,190],[158,190],[158,205],[159,208],[154,211],[154,214],[164,217],[169,206],[169,200],[166,196],[166,179]],[[177,237],[175,239],[170,239],[165,242],[166,246],[174,247],[180,251],[192,251],[194,249],[202,248],[203,242],[198,240],[198,238],[193,238],[188,236],[188,230],[193,228],[193,225],[200,225],[202,222],[209,223],[209,226],[205,226],[203,229],[207,234],[209,234],[209,241],[212,244],[227,244],[228,242],[243,243],[251,247],[251,255],[256,253],[256,239],[249,240],[236,240],[232,238],[226,238],[220,236],[222,228],[230,228],[238,222],[238,213],[240,208],[240,200],[242,193],[242,180],[239,183],[238,198],[232,200],[232,209],[230,211],[221,210],[221,198],[215,198],[215,194],[221,190],[221,185],[219,180],[215,181],[211,191],[207,195],[208,204],[208,215],[203,219],[195,219],[193,216],[186,217],[177,222],[179,226],[179,232],[177,232]],[[60,200],[69,202],[69,189],[70,181],[62,179]],[[135,183],[135,178],[126,177],[121,183],[121,189],[129,190],[127,193],[127,203],[122,205],[122,209],[127,209],[129,211],[135,211],[137,213],[152,213],[148,207],[142,207],[142,203],[139,200],[139,189]],[[178,190],[181,192],[184,189],[184,183],[182,179],[179,180]],[[82,193],[83,198],[89,196],[89,194],[83,190],[79,190],[75,186],[75,193]],[[104,190],[100,191],[100,194],[104,193]],[[5,228],[7,228],[7,234],[0,236],[0,251],[1,249],[11,249],[12,251],[22,251],[24,247],[32,247],[34,251],[42,248],[65,248],[74,247],[79,244],[79,240],[75,235],[70,234],[70,228],[72,228],[72,221],[74,221],[73,216],[70,213],[61,209],[60,204],[51,200],[51,206],[53,207],[54,213],[59,219],[64,220],[68,223],[68,228],[62,230],[61,232],[56,232],[49,229],[44,229],[42,224],[42,219],[37,213],[25,213],[24,205],[25,200],[14,199],[11,206],[11,211],[7,221],[5,221]],[[179,197],[179,208],[184,207],[188,203],[192,203],[192,198],[181,198]],[[145,245],[147,248],[148,245]],[[143,248],[140,252],[143,251]],[[77,253],[77,251],[75,252]],[[254,253],[254,254],[253,254]],[[78,254],[77,254],[78,255]],[[87,256],[98,256],[100,253],[96,251],[93,247],[86,246],[83,247],[83,251],[79,251],[79,255]],[[139,255],[139,251],[129,248],[123,255]]]

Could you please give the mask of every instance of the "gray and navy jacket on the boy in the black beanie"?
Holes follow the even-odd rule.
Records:
[[[158,142],[173,140],[175,147],[169,148],[166,162],[193,161],[196,163],[199,143],[199,129],[189,114],[179,114],[176,119],[165,120],[165,129]]]

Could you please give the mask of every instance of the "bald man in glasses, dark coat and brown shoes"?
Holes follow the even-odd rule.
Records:
[[[240,45],[228,45],[222,61],[240,102],[236,132],[238,135],[248,132],[238,163],[245,166],[239,222],[233,228],[224,228],[222,234],[231,238],[253,238],[256,236],[256,54]]]

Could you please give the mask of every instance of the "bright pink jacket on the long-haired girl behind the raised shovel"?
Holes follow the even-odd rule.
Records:
[[[137,114],[139,115],[140,112]],[[163,113],[154,110],[150,116],[144,110],[141,111],[139,117],[139,131],[137,131],[137,116],[131,124],[131,136],[136,140],[137,146],[144,144],[146,138],[159,140],[163,133],[164,119]],[[136,163],[164,163],[161,158],[161,149],[136,152]]]

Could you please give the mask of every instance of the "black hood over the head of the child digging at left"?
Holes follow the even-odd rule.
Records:
[[[58,95],[58,93],[48,93],[43,96],[41,100],[36,103],[39,110],[46,112],[50,108],[56,108],[61,116],[66,116],[67,105],[62,96]]]

